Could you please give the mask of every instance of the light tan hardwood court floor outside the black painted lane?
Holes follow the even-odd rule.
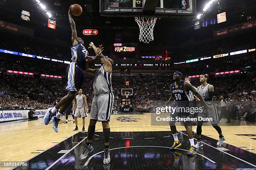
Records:
[[[89,117],[86,118],[86,129]],[[64,120],[65,117],[61,117],[61,119]],[[71,116],[69,120],[72,120]],[[225,122],[225,120],[222,121]],[[69,121],[68,125],[63,123],[64,121],[59,124],[59,133],[55,133],[51,125],[45,126],[43,119],[9,124],[1,123],[0,161],[28,160],[77,133],[72,131],[74,129],[72,121]],[[79,119],[78,124],[79,130],[82,130],[82,119]],[[241,124],[241,126],[221,126],[226,137],[225,143],[234,145],[237,148],[241,147],[241,149],[248,150],[251,153],[256,153],[255,124],[250,126],[243,125],[245,124],[243,121]],[[145,115],[111,115],[110,128],[111,132],[169,131],[169,126],[152,126],[150,113]],[[195,129],[196,127],[193,127],[194,131]],[[102,132],[100,122],[97,123],[96,130],[97,132]],[[177,130],[185,130],[185,128],[177,126]],[[203,126],[202,134],[218,140],[218,134],[212,126]],[[202,140],[204,139],[202,138]],[[172,141],[170,140],[170,146]]]

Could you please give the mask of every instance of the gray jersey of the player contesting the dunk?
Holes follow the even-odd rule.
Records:
[[[96,70],[93,81],[93,90],[95,95],[113,92],[111,75],[111,72],[104,70],[103,65]]]

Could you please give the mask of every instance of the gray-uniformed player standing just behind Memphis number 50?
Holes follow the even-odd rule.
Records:
[[[215,103],[213,102],[214,87],[213,85],[210,85],[207,83],[207,75],[200,76],[200,83],[202,85],[197,87],[197,90],[204,97],[204,100],[209,105],[210,109],[207,109],[207,110],[204,109],[203,112],[199,112],[198,117],[212,118],[211,124],[213,128],[215,128],[219,133],[219,141],[217,142],[217,146],[221,146],[224,143],[225,136],[223,136],[220,126],[218,126],[218,122],[219,122],[218,110],[216,108]],[[203,124],[203,121],[197,122],[197,144],[195,145],[195,148],[199,148],[203,146],[201,141],[202,124]]]

